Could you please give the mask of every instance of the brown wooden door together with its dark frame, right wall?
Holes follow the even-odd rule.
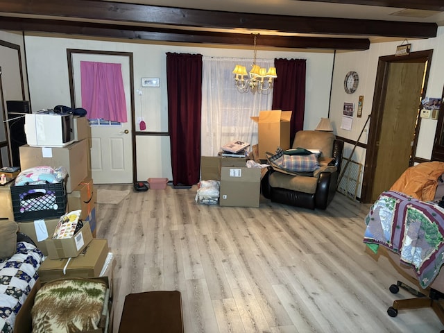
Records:
[[[433,50],[379,57],[361,202],[373,203],[417,161],[420,101]]]

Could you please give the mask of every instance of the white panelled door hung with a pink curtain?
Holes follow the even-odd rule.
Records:
[[[76,106],[80,107],[80,61],[120,63],[126,96],[127,123],[91,125],[91,169],[94,184],[129,184],[133,182],[133,133],[131,133],[131,84],[128,56],[73,53],[72,65]]]

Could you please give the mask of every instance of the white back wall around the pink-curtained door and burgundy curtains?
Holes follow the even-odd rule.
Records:
[[[142,114],[147,131],[168,131],[167,105],[167,52],[200,53],[203,56],[252,58],[253,49],[232,49],[223,46],[178,46],[141,42],[110,42],[62,37],[28,35],[25,37],[27,67],[33,110],[71,105],[69,95],[67,49],[133,52],[135,89],[135,116]],[[276,51],[275,51],[276,50]],[[305,129],[314,129],[321,117],[327,117],[330,99],[330,77],[333,52],[282,51],[259,49],[258,58],[307,59],[307,92],[305,102]],[[142,88],[141,78],[160,78],[160,88]],[[234,84],[234,83],[233,83]],[[78,105],[77,105],[78,106]],[[143,112],[143,113],[142,113]],[[168,137],[137,137],[137,179],[166,177],[171,180],[171,162]]]

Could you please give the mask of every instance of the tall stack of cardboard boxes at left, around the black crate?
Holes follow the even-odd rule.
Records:
[[[40,186],[46,191],[53,184],[15,186],[14,182],[11,182],[0,189],[0,218],[16,221],[19,231],[31,237],[47,256],[37,271],[39,283],[34,289],[60,278],[97,278],[106,279],[112,293],[114,259],[108,241],[95,238],[96,191],[91,176],[91,128],[85,117],[74,117],[73,122],[72,143],[65,146],[39,146],[33,143],[32,146],[26,144],[19,147],[22,170],[40,166],[53,169],[65,167],[67,170],[65,185],[60,184],[63,191],[56,191],[57,200],[62,200],[54,205],[58,206],[58,210],[45,208],[38,212],[35,210],[26,212],[26,207],[16,198],[18,188],[23,188],[22,191],[25,191],[26,187]],[[39,198],[35,198],[35,201],[38,200]],[[60,207],[62,212],[58,214]],[[74,234],[74,237],[53,239],[53,232],[60,216],[74,210],[81,210],[79,219],[83,222],[83,227]],[[25,310],[20,311],[20,316],[17,316],[17,332],[28,332],[34,296],[35,291],[26,300]]]

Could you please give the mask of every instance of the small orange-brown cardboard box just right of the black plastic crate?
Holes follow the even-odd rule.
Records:
[[[96,207],[97,193],[91,178],[85,178],[68,194],[68,211],[82,210],[80,220],[85,220],[89,213]]]

